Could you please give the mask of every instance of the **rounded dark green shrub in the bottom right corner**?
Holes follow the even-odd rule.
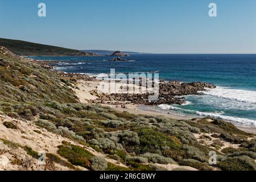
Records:
[[[237,156],[233,158],[227,158],[217,163],[224,171],[255,171],[256,163],[255,160],[248,156]]]

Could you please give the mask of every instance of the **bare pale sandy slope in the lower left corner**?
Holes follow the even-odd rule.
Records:
[[[12,122],[16,126],[18,126],[17,130],[14,129],[7,129],[3,122]],[[37,132],[35,132],[37,131]],[[38,133],[40,131],[41,134]],[[3,113],[0,113],[0,139],[6,139],[10,142],[14,142],[19,144],[20,146],[28,146],[31,147],[33,150],[37,152],[45,152],[50,154],[57,154],[57,146],[61,145],[63,140],[70,142],[72,144],[82,146],[79,143],[73,142],[68,138],[61,137],[60,135],[53,134],[46,129],[42,129],[35,125],[34,122],[26,121],[26,120],[18,120],[12,119]],[[95,156],[105,156],[99,152],[96,152],[91,147],[85,147],[86,150],[92,152]],[[58,155],[59,156],[59,155]],[[61,158],[61,156],[59,156]],[[22,165],[14,165],[11,162],[18,158],[23,162]],[[105,156],[106,158],[106,156]],[[61,158],[65,160],[64,158]],[[6,160],[9,162],[5,164]],[[126,167],[125,165],[118,163],[113,159],[106,160],[110,163],[117,164],[118,166]],[[88,170],[82,167],[77,167],[81,170]],[[31,156],[26,154],[26,151],[23,148],[11,148],[8,147],[6,144],[3,144],[0,140],[0,170],[44,170],[46,169],[45,166],[39,165],[38,160],[33,159]],[[69,168],[65,166],[61,166],[60,164],[55,163],[54,170],[69,170]]]

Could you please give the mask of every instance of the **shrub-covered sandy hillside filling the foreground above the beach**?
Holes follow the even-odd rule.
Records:
[[[254,134],[214,118],[84,104],[78,80],[0,47],[0,170],[256,170]]]

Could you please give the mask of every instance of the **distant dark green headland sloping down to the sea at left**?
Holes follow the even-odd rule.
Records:
[[[47,46],[25,42],[22,40],[11,40],[0,38],[0,46],[20,56],[97,56],[94,53],[82,52],[75,49],[68,49],[55,46]]]

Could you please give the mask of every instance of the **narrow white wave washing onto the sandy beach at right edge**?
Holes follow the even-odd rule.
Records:
[[[196,111],[196,114],[201,115],[201,116],[209,116],[209,117],[213,117],[213,118],[224,119],[225,121],[236,122],[241,125],[256,126],[256,121],[254,121],[252,119],[237,118],[237,117],[231,117],[231,116],[215,114],[215,113],[203,113],[200,111]]]

